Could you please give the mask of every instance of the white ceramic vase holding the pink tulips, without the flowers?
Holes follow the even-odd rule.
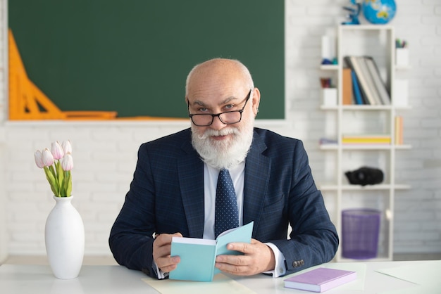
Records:
[[[46,254],[54,276],[75,279],[80,274],[85,253],[85,227],[70,197],[56,197],[46,219]]]

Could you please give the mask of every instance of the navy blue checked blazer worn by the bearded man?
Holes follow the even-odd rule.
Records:
[[[254,129],[243,203],[243,223],[251,221],[252,238],[274,243],[285,255],[287,274],[333,259],[337,231],[314,184],[302,141]],[[176,232],[194,238],[204,232],[204,165],[192,147],[190,129],[140,146],[109,245],[119,264],[156,276],[152,234]]]

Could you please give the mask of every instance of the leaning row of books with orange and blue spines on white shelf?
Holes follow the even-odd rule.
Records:
[[[390,92],[371,56],[344,56],[343,104],[390,105]]]

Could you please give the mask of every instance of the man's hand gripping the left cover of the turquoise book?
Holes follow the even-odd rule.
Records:
[[[182,234],[160,234],[156,236],[153,242],[153,259],[163,272],[173,271],[180,262],[179,256],[170,257],[172,237],[182,237]]]

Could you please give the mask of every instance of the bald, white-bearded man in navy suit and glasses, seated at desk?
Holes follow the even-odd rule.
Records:
[[[173,236],[215,238],[218,202],[225,202],[216,200],[216,183],[225,174],[234,199],[228,221],[254,221],[254,229],[251,243],[228,245],[243,255],[216,257],[218,269],[278,277],[334,257],[337,232],[302,141],[254,127],[260,98],[238,60],[216,58],[190,71],[185,99],[191,129],[139,148],[109,238],[118,263],[163,279],[180,262],[170,256]]]

